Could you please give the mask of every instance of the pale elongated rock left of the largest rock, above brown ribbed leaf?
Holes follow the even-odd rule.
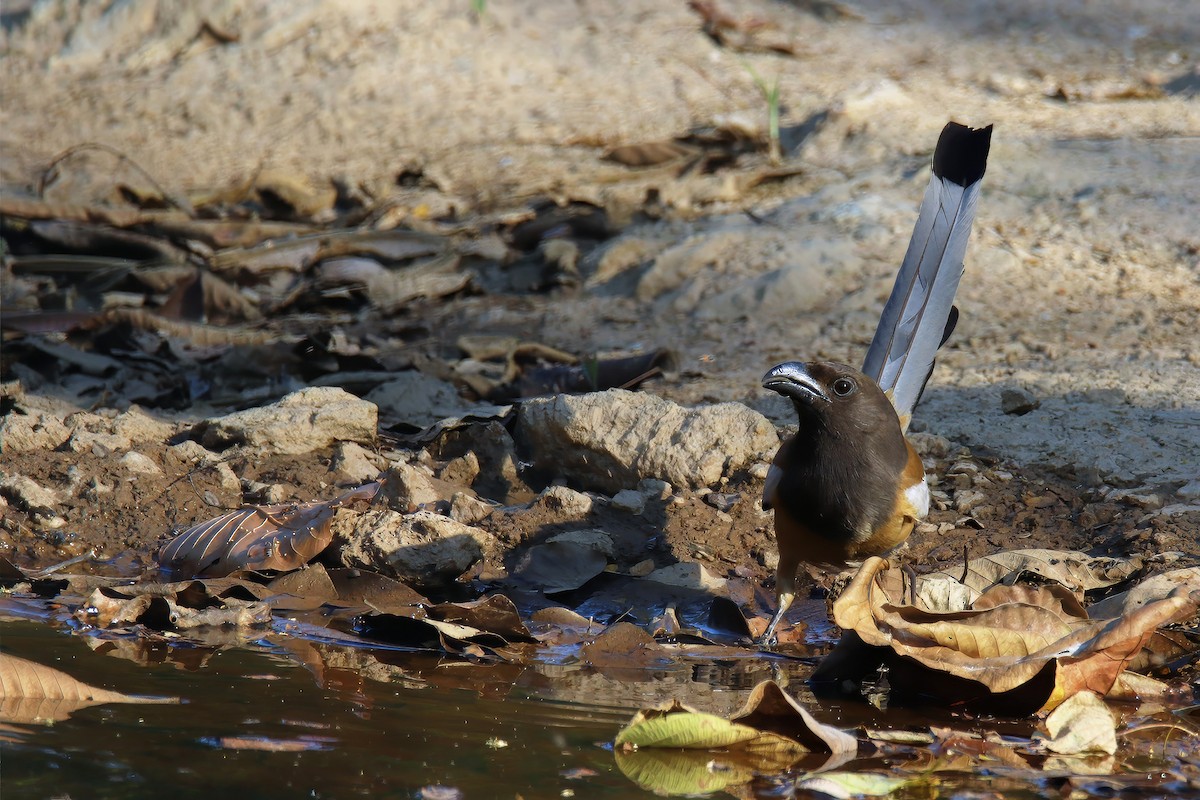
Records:
[[[301,389],[270,405],[205,420],[193,431],[210,450],[235,445],[299,456],[337,441],[370,444],[378,410],[336,386]]]

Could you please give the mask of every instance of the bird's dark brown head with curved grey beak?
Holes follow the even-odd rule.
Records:
[[[850,434],[877,429],[899,433],[887,395],[858,369],[833,361],[786,361],[763,375],[762,385],[792,401],[800,427]]]

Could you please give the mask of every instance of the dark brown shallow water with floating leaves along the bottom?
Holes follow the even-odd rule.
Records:
[[[1033,728],[1032,720],[980,721],[946,709],[882,711],[863,702],[817,700],[804,685],[810,669],[804,661],[736,648],[680,650],[653,666],[605,669],[580,664],[566,648],[541,649],[529,663],[472,662],[365,643],[282,618],[253,636],[217,630],[187,639],[146,630],[114,634],[80,627],[53,603],[0,597],[6,655],[92,686],[180,700],[95,705],[52,724],[13,718],[5,703],[5,800],[650,798],[656,795],[622,772],[610,744],[634,712],[679,699],[728,715],[767,678],[786,685],[817,718],[844,729],[979,730],[982,722],[984,732],[1021,748]],[[1070,775],[1043,774],[1037,757],[1006,763],[989,751],[972,754],[970,745],[958,752],[877,746],[860,739],[859,757],[840,769],[913,780],[899,798],[1062,796]],[[709,756],[696,756],[703,768]],[[1097,776],[1097,783],[1079,783],[1076,790],[1168,796],[1181,783],[1178,763],[1165,756],[1164,750],[1139,764],[1140,776]],[[630,766],[630,758],[622,760]],[[815,757],[787,776],[731,790],[790,796],[790,782],[823,762]],[[1154,775],[1172,769],[1174,776]],[[438,786],[461,794],[421,793]]]

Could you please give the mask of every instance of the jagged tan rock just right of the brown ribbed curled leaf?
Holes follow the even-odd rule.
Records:
[[[479,528],[432,511],[400,513],[390,509],[347,517],[342,564],[382,572],[418,589],[445,587],[492,548]]]

